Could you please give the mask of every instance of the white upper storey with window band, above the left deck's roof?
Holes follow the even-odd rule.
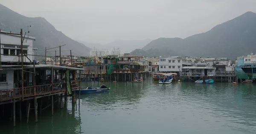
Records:
[[[20,35],[13,35],[9,32],[3,32],[0,33],[1,36],[1,53],[2,59],[1,62],[18,62],[21,61],[20,59]],[[23,36],[24,37],[24,36]],[[25,36],[25,39],[23,41],[23,53],[29,54],[26,56],[23,56],[23,62],[31,62],[33,61],[34,57],[30,56],[33,55],[33,41],[35,41],[35,37],[31,36]],[[31,61],[29,61],[29,59]]]

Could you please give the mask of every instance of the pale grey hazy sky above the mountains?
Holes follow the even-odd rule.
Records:
[[[186,38],[247,11],[256,0],[0,0],[27,17],[44,17],[75,40]]]

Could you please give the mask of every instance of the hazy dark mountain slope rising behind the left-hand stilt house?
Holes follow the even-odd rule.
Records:
[[[25,34],[25,32],[28,31],[28,25],[32,25],[32,27],[29,27],[29,36],[36,38],[35,42],[33,42],[33,47],[35,48],[45,49],[45,47],[52,48],[66,44],[61,48],[61,50],[72,50],[72,55],[86,56],[90,54],[91,49],[89,47],[70,39],[61,31],[57,31],[54,26],[44,18],[25,17],[0,4],[1,31],[20,33],[20,28],[23,28],[23,34]],[[28,32],[26,35],[28,35]],[[53,53],[47,53],[47,55],[52,54]],[[62,52],[62,54],[68,55],[70,52]],[[40,53],[38,55],[44,54]]]

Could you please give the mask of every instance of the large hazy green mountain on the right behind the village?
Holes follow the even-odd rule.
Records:
[[[146,56],[227,57],[250,54],[256,50],[256,14],[246,12],[211,30],[181,38],[159,38],[142,48]],[[137,53],[134,50],[131,54]],[[159,53],[154,54],[155,51]],[[256,52],[254,52],[256,53]]]

